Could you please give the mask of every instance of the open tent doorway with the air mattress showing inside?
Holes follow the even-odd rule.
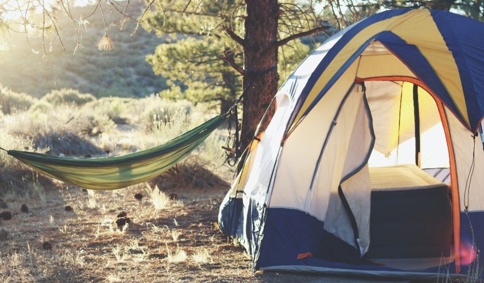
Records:
[[[364,85],[375,137],[365,165],[371,201],[364,257],[403,270],[449,264],[452,192],[438,104],[414,83],[383,78]]]

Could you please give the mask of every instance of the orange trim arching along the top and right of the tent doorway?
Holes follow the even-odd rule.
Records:
[[[402,81],[408,82],[422,87],[427,91],[437,104],[439,110],[440,120],[445,132],[445,138],[447,141],[447,148],[449,151],[449,165],[451,169],[451,191],[452,191],[452,220],[454,226],[454,257],[455,257],[455,272],[460,273],[460,199],[459,199],[459,185],[457,183],[457,169],[455,168],[455,155],[454,147],[452,146],[451,131],[447,122],[447,117],[444,111],[442,101],[435,93],[425,85],[421,80],[407,76],[389,76],[389,77],[375,77],[375,78],[357,78],[356,83],[362,83],[364,81]],[[460,121],[460,119],[458,119]],[[461,122],[461,121],[460,121]],[[462,123],[462,122],[461,122]],[[464,125],[465,126],[465,125]],[[467,128],[467,127],[466,127]]]

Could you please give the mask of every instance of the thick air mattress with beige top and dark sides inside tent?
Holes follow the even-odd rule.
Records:
[[[415,165],[370,168],[367,258],[430,258],[452,251],[449,186]]]

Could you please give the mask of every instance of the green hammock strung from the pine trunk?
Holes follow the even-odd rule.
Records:
[[[117,157],[75,159],[8,150],[8,154],[52,178],[91,190],[115,190],[147,181],[175,165],[223,122],[216,116],[164,144]]]

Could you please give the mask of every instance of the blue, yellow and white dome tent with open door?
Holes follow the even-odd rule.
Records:
[[[473,266],[484,249],[483,23],[376,14],[314,50],[275,105],[218,219],[253,270],[424,278]]]

